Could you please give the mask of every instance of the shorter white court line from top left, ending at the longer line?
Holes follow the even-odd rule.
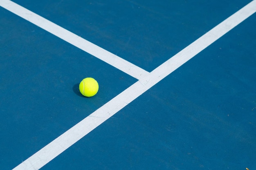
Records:
[[[104,62],[118,68],[124,73],[135,77],[136,79],[140,79],[141,77],[149,74],[144,69],[122,59],[121,57],[118,57],[117,55],[110,53],[109,51],[106,51],[105,49],[102,49],[101,47],[79,37],[78,35],[62,28],[61,26],[58,26],[57,24],[54,24],[53,22],[41,17],[40,15],[37,15],[32,11],[29,11],[28,9],[10,0],[0,0],[0,6],[35,24],[36,26],[39,26],[49,33],[56,35],[58,38],[61,38],[62,40],[65,40],[66,42],[78,47],[79,49],[82,49],[83,51],[99,58],[100,60],[103,60]]]

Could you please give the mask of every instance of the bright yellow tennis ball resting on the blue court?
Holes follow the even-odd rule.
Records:
[[[83,79],[79,84],[79,91],[81,92],[82,95],[86,97],[92,97],[96,95],[98,90],[99,90],[99,84],[92,77],[87,77]]]

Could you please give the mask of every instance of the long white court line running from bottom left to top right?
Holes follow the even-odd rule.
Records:
[[[253,0],[238,12],[234,13],[204,34],[198,40],[157,67],[150,73],[150,75],[147,75],[135,84],[132,84],[132,86],[101,106],[101,108],[67,130],[27,160],[20,163],[20,165],[13,170],[38,170],[45,166],[49,161],[57,157],[64,150],[94,130],[94,128],[97,128],[97,126],[115,115],[119,110],[127,106],[134,99],[146,92],[164,77],[175,71],[182,64],[186,63],[196,54],[200,53],[200,51],[204,50],[207,46],[218,40],[222,35],[225,35],[225,33],[233,29],[236,25],[243,22],[243,20],[255,12],[256,0]]]

